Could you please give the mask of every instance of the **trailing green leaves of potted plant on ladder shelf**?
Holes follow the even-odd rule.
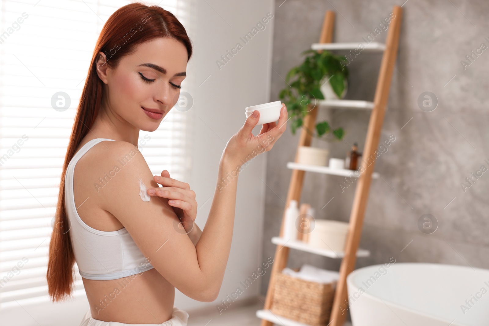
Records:
[[[292,134],[302,127],[304,117],[317,105],[316,101],[325,99],[321,86],[326,80],[337,98],[342,98],[348,79],[348,61],[345,56],[334,55],[326,50],[306,50],[301,54],[307,55],[304,62],[289,70],[285,78],[289,87],[279,92],[279,98],[289,111]],[[326,140],[342,139],[345,133],[343,128],[333,129],[327,121],[317,123],[315,130],[316,133],[307,131],[317,138],[325,136]]]

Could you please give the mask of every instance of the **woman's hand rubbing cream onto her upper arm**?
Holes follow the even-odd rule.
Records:
[[[155,175],[153,179],[163,187],[148,189],[148,195],[170,199],[168,204],[173,207],[185,231],[190,232],[197,217],[195,192],[190,190],[188,183],[170,178],[170,173],[167,170],[163,170],[161,176]]]

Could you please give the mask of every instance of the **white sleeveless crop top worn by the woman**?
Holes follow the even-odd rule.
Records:
[[[117,231],[94,229],[85,224],[76,211],[73,196],[76,162],[91,147],[104,140],[114,141],[108,138],[90,140],[70,160],[65,176],[65,201],[71,245],[80,275],[90,280],[115,280],[153,268],[126,228]]]

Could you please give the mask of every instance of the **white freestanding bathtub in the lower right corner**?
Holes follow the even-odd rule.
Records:
[[[489,270],[391,261],[348,276],[353,326],[489,325]]]

